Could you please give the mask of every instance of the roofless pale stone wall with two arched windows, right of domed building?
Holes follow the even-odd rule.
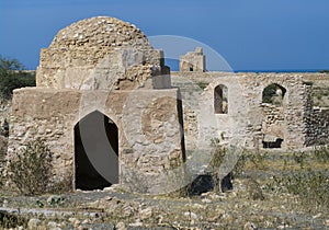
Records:
[[[305,122],[309,114],[320,116],[322,124],[328,124],[329,118],[325,112],[321,112],[321,115],[316,115],[318,113],[316,111],[313,112],[313,105],[309,104],[311,90],[305,83],[310,79],[326,80],[320,73],[172,72],[171,74],[172,84],[180,87],[182,91],[184,127],[188,129],[185,137],[191,143],[197,140],[209,142],[212,138],[218,138],[222,141],[238,142],[246,148],[262,148],[262,141],[268,135],[282,138],[282,148],[303,148],[309,145]],[[262,103],[262,92],[272,83],[286,90],[282,106]],[[219,84],[228,88],[227,114],[214,113],[214,89]],[[195,102],[197,105],[190,110],[191,104]],[[319,138],[322,129],[315,124],[316,122],[313,126],[317,131],[311,133],[317,134],[315,136]],[[188,142],[186,148],[190,148]]]

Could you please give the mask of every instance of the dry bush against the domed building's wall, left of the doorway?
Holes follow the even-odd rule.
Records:
[[[43,140],[27,142],[25,150],[8,162],[8,176],[19,192],[37,195],[49,191],[52,154]]]

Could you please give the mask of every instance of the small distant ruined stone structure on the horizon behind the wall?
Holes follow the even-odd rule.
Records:
[[[206,61],[201,47],[180,57],[180,71],[205,72]]]

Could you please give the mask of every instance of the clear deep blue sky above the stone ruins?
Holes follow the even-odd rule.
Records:
[[[0,0],[0,54],[35,69],[58,30],[97,15],[196,39],[234,70],[329,69],[329,0]]]

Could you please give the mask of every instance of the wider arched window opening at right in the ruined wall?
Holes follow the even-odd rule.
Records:
[[[263,90],[262,103],[282,106],[285,93],[286,89],[284,87],[276,83],[270,84]]]

